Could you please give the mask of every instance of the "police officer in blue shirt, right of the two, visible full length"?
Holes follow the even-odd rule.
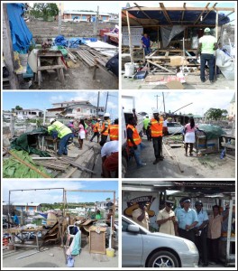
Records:
[[[206,235],[207,235],[207,225],[209,222],[206,210],[203,210],[203,202],[196,201],[195,208],[197,212],[198,223],[195,227],[195,244],[199,251],[200,261],[203,262],[203,266],[208,266],[207,260],[207,244],[206,244]]]

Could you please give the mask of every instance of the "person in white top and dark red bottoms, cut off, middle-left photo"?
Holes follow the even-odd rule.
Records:
[[[102,157],[102,177],[111,178],[111,172],[115,172],[114,177],[118,177],[118,140],[106,142],[101,149]]]

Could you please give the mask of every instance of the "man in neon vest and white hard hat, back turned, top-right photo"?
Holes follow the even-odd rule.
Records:
[[[202,82],[206,81],[205,78],[205,66],[206,62],[209,68],[209,80],[210,83],[214,82],[215,73],[215,50],[217,49],[217,43],[214,36],[211,35],[210,28],[206,27],[204,36],[199,39],[197,48],[197,57],[200,54],[200,79]]]

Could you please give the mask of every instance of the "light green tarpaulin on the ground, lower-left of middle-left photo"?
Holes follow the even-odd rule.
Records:
[[[42,166],[37,166],[33,163],[32,157],[27,152],[12,150],[12,153],[16,154],[27,164],[33,165],[42,173],[46,173],[47,175],[49,175],[49,177],[51,177],[50,174],[47,173]],[[22,164],[17,159],[15,159],[14,156],[11,156],[10,158],[4,160],[3,174],[4,178],[42,178],[41,174],[36,173],[25,164]]]

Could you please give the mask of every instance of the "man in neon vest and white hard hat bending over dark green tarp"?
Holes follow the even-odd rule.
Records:
[[[50,118],[50,126],[48,126],[48,133],[52,131],[57,131],[59,137],[59,150],[57,154],[61,156],[62,154],[68,155],[67,144],[70,137],[73,137],[72,131],[68,126],[65,126],[55,118]]]

